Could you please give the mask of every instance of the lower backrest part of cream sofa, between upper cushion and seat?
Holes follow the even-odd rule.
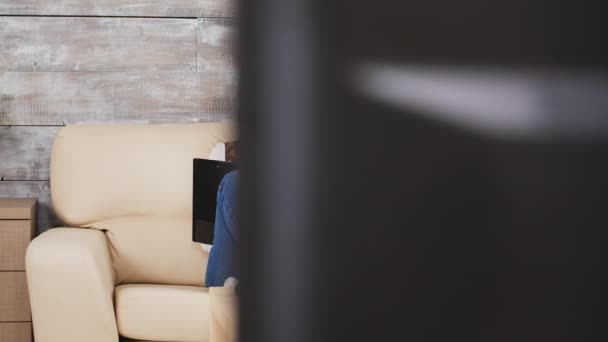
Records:
[[[192,218],[120,217],[105,231],[117,284],[204,286],[208,253],[192,242]]]

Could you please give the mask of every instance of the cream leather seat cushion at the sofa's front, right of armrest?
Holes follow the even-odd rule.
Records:
[[[209,341],[206,288],[129,284],[116,287],[116,322],[121,336],[146,341]]]

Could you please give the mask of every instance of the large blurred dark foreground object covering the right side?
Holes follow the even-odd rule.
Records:
[[[601,2],[241,2],[242,341],[608,338]]]

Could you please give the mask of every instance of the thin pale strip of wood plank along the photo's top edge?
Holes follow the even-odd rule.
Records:
[[[0,0],[0,14],[225,17],[234,16],[235,0]]]

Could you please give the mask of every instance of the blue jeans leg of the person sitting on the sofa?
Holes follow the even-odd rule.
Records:
[[[209,253],[205,282],[207,287],[223,286],[228,277],[235,277],[236,202],[238,171],[222,179],[217,192],[213,247]]]

